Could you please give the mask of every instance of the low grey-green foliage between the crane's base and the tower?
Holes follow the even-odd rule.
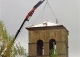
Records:
[[[16,56],[27,57],[26,50],[20,45],[20,43],[12,47],[11,57],[16,57]]]

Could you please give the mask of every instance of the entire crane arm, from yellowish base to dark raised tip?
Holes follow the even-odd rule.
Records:
[[[30,17],[33,15],[34,11],[44,2],[45,0],[40,0],[33,8],[32,10],[27,14],[26,18],[24,19],[24,21],[22,22],[19,30],[17,30],[16,34],[15,34],[15,37],[13,39],[13,43],[9,43],[7,45],[7,48],[4,50],[4,52],[2,52],[2,57],[9,57],[9,52],[10,52],[10,49],[11,47],[13,46],[17,36],[19,35],[23,25],[25,24],[26,21],[29,21]],[[5,54],[8,54],[7,56],[5,56]]]

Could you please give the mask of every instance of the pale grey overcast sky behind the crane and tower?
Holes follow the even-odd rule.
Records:
[[[0,20],[6,26],[10,35],[15,35],[27,13],[39,0],[0,0]],[[52,11],[47,5],[43,18],[41,11],[46,1],[35,11],[30,21],[27,21],[21,30],[16,42],[28,52],[28,30],[25,27],[39,24],[44,21],[58,22],[69,31],[69,57],[80,56],[80,1],[79,0],[48,0]],[[36,20],[37,19],[37,20]],[[36,20],[36,21],[35,21]]]

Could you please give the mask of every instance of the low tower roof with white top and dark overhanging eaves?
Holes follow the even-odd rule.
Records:
[[[43,22],[37,25],[26,27],[26,29],[28,30],[35,30],[35,29],[43,30],[43,29],[53,29],[53,28],[54,29],[65,29],[68,32],[68,30],[63,25],[59,23],[53,23],[53,22]]]

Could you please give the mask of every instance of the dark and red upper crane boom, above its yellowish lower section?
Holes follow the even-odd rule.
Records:
[[[17,33],[16,33],[16,35],[15,35],[14,41],[15,41],[15,39],[17,38],[19,32],[21,31],[24,23],[25,23],[26,21],[29,21],[29,18],[33,15],[34,11],[35,11],[44,1],[45,1],[45,0],[40,0],[40,1],[33,7],[33,9],[27,14],[26,18],[24,19],[23,23],[21,24],[19,30],[17,31]]]

